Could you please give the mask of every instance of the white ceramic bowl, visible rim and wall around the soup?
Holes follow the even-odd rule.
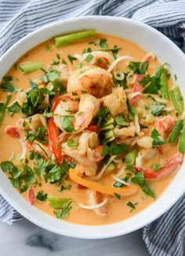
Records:
[[[166,38],[165,35],[162,35],[154,28],[135,20],[121,17],[78,17],[49,24],[38,29],[36,32],[32,32],[7,50],[2,58],[0,58],[0,80],[11,65],[32,47],[56,35],[90,28],[94,28],[101,33],[129,39],[143,47],[144,50],[154,51],[161,63],[167,62],[170,64],[172,74],[176,74],[178,77],[178,84],[185,98],[185,87],[183,86],[185,84],[183,70],[185,66],[185,55],[183,52],[172,41]],[[20,214],[42,228],[65,236],[102,239],[120,236],[142,228],[144,225],[160,217],[166,210],[169,210],[185,191],[184,175],[185,162],[183,162],[180,171],[176,174],[172,183],[169,184],[169,187],[151,206],[148,206],[142,212],[137,213],[125,221],[101,226],[72,224],[67,221],[57,220],[37,210],[16,192],[2,172],[0,172],[0,193]]]

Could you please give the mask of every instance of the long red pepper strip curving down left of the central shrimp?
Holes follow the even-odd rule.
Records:
[[[54,106],[52,108],[52,113],[55,111],[56,107],[62,102],[63,100],[69,100],[69,95],[62,95],[59,98],[56,99],[56,102],[54,103]],[[57,128],[53,117],[49,117],[48,121],[48,132],[49,132],[49,142],[51,144],[53,154],[56,157],[56,160],[59,164],[62,162],[62,150],[60,148],[60,141],[58,138],[59,134],[59,128]]]

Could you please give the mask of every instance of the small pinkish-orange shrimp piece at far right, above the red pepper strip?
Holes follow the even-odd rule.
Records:
[[[172,128],[176,124],[171,117],[156,118],[154,121],[154,128],[162,136],[162,138],[167,135],[167,132],[171,132]]]

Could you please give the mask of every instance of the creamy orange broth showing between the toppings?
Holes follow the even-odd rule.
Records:
[[[69,46],[63,46],[60,48],[56,48],[53,45],[53,39],[48,40],[45,43],[42,43],[36,47],[34,47],[32,50],[28,51],[27,54],[24,54],[23,57],[21,57],[18,61],[16,61],[16,64],[20,64],[22,62],[26,61],[33,61],[33,62],[41,62],[44,64],[44,67],[47,65],[51,65],[53,62],[53,59],[56,60],[56,54],[60,54],[61,58],[64,58],[64,60],[67,61],[67,65],[71,67],[71,69],[74,69],[75,65],[71,65],[71,63],[67,59],[67,54],[71,54],[72,56],[74,54],[82,54],[82,51],[88,47],[91,47],[93,50],[100,49],[98,46],[94,46],[93,44],[89,44],[89,41],[96,41],[98,38],[106,38],[107,42],[109,44],[109,47],[111,48],[114,45],[117,45],[118,47],[122,47],[122,50],[119,50],[118,54],[120,56],[122,55],[130,55],[134,58],[136,58],[136,61],[140,61],[147,52],[140,48],[140,46],[137,46],[135,43],[129,42],[125,39],[120,39],[111,35],[97,35],[96,39],[88,39],[83,40],[80,43],[74,43]],[[51,50],[46,50],[45,47],[49,46]],[[78,61],[74,61],[74,64],[78,63]],[[121,61],[118,64],[118,70],[129,70],[126,67],[126,63],[128,61]],[[156,66],[159,65],[158,61],[151,61],[148,72],[151,73],[151,75],[154,75],[154,70]],[[55,66],[54,66],[55,67]],[[31,72],[30,74],[24,75],[24,73],[20,69],[15,69],[13,66],[9,72],[7,72],[6,76],[13,76],[13,85],[16,88],[22,88],[24,90],[27,90],[29,87],[29,80],[36,80],[38,77],[42,76],[43,72],[36,71]],[[169,84],[172,85],[172,80],[169,80]],[[0,101],[5,102],[6,95],[1,91]],[[11,102],[13,102],[16,99],[16,96],[13,96]],[[172,105],[170,105],[172,106]],[[18,139],[14,139],[11,136],[7,135],[5,131],[5,127],[8,125],[16,126],[17,119],[21,117],[21,114],[14,114],[13,117],[9,117],[8,114],[5,114],[5,120],[3,121],[2,126],[0,127],[0,160],[6,161],[10,158],[10,156],[13,154],[20,155],[22,152],[22,147],[20,146],[20,143]],[[176,120],[175,111],[172,112],[172,117]],[[152,129],[152,128],[151,128]],[[151,134],[151,129],[148,130],[146,135]],[[174,152],[178,151],[177,144],[172,144],[172,147],[164,146],[165,151],[165,159],[169,159],[174,155]],[[28,153],[28,152],[27,152]],[[27,159],[29,159],[27,154]],[[150,167],[152,162],[158,162],[158,159],[154,159],[151,162],[146,163],[146,167]],[[29,165],[29,163],[28,163]],[[31,166],[33,166],[33,163],[31,163]],[[117,171],[118,172],[118,171]],[[173,178],[173,175],[166,177],[162,180],[157,181],[148,181],[150,184],[152,190],[154,190],[156,198],[158,198],[161,193],[165,190],[165,188],[169,185]],[[126,218],[132,217],[132,215],[139,213],[141,210],[145,209],[147,206],[149,206],[152,202],[154,202],[154,198],[151,198],[150,196],[147,196],[143,193],[143,191],[140,190],[138,187],[138,192],[136,195],[131,195],[125,198],[122,198],[119,200],[118,198],[114,196],[108,196],[109,200],[107,202],[107,210],[108,214],[107,216],[99,216],[97,215],[93,210],[84,210],[80,207],[78,207],[78,203],[83,203],[85,205],[88,205],[88,189],[78,189],[74,183],[72,184],[71,190],[65,190],[62,192],[59,192],[59,187],[56,184],[49,184],[45,183],[44,179],[42,181],[38,180],[38,183],[42,182],[42,187],[39,187],[38,184],[33,184],[31,187],[34,188],[35,195],[38,191],[44,191],[44,193],[48,194],[50,197],[53,198],[74,198],[73,208],[71,210],[71,213],[66,221],[74,222],[77,224],[89,224],[89,225],[95,225],[95,224],[111,224],[118,221],[123,221]],[[114,180],[112,180],[111,176],[103,176],[102,179],[100,179],[100,182],[103,184],[112,185]],[[27,191],[25,191],[23,194],[24,198],[27,200]],[[129,206],[127,206],[128,202],[137,203],[136,210],[132,210]],[[49,202],[35,202],[34,206],[37,207],[39,210],[44,211],[45,213],[48,213],[55,217],[55,214],[53,214],[53,208],[49,206]]]

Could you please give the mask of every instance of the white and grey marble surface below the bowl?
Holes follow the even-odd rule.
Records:
[[[85,240],[47,232],[27,220],[0,223],[0,256],[149,256],[141,231],[111,239]]]

